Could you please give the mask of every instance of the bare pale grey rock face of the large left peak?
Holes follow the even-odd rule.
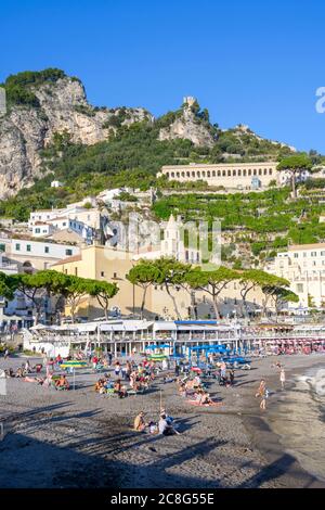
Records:
[[[151,118],[144,109],[94,109],[82,84],[69,77],[30,87],[39,105],[13,105],[0,117],[0,197],[32,183],[41,173],[39,151],[55,132],[67,130],[72,141],[93,144],[107,139],[118,125]],[[42,170],[43,171],[43,170]]]

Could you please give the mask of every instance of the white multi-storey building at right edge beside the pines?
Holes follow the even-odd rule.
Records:
[[[265,270],[290,281],[290,289],[299,296],[299,303],[290,307],[325,306],[325,243],[291,245]]]

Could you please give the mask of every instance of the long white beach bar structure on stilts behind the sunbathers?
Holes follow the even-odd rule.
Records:
[[[310,346],[325,349],[325,326],[219,323],[216,320],[148,321],[116,319],[76,324],[37,324],[23,330],[24,349],[49,356],[68,356],[73,350],[102,348],[114,356],[155,352],[188,356],[199,345],[220,346],[231,350],[252,352],[283,347]]]

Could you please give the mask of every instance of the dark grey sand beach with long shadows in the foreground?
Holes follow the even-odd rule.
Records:
[[[285,366],[285,391],[272,367],[277,360]],[[23,361],[1,358],[0,368]],[[8,379],[6,395],[0,395],[0,487],[323,487],[316,446],[313,462],[308,461],[311,446],[300,451],[292,404],[296,379],[322,366],[324,354],[253,359],[250,371],[236,370],[234,387],[208,382],[220,403],[210,408],[192,406],[178,395],[176,383],[164,384],[161,377],[148,393],[126,399],[96,394],[99,375],[89,370],[76,373],[76,388],[68,392]],[[262,378],[271,393],[265,411],[255,398]],[[139,411],[158,420],[160,399],[181,435],[134,432]],[[313,412],[310,426],[318,418]],[[297,444],[294,434],[286,437],[288,419]]]

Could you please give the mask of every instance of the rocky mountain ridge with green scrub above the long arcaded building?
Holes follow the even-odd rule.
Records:
[[[75,176],[95,171],[112,175],[131,169],[156,173],[164,164],[188,163],[202,156],[211,163],[229,157],[264,161],[292,151],[285,144],[258,137],[246,126],[219,129],[210,124],[208,111],[202,110],[192,97],[184,98],[179,110],[154,119],[142,107],[93,107],[81,81],[61,69],[18,73],[10,76],[2,88],[6,92],[6,113],[1,113],[0,102],[0,200],[47,176],[50,167],[56,175],[64,158],[63,151],[56,146],[60,138],[81,145],[72,151],[75,158],[65,160],[65,168],[74,169]],[[132,131],[119,129],[144,120],[146,124],[138,124],[133,137]],[[117,130],[120,137],[114,137]],[[106,143],[101,143],[94,157],[84,155],[84,145],[104,140]],[[57,149],[55,162],[52,145]],[[69,171],[58,177],[68,182]],[[46,180],[48,187],[49,179]]]

